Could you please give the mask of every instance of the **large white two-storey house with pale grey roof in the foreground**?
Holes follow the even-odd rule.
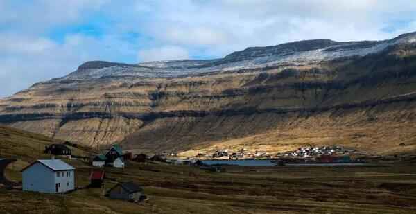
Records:
[[[24,191],[65,193],[75,186],[75,168],[58,159],[37,160],[21,171]]]

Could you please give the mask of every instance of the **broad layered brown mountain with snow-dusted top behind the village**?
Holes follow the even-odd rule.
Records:
[[[416,33],[307,40],[221,59],[85,62],[0,100],[0,122],[98,146],[193,155],[345,145],[416,151]]]

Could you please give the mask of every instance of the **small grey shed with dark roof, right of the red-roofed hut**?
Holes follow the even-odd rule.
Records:
[[[116,184],[108,190],[107,194],[112,199],[123,199],[130,202],[139,202],[145,197],[143,188],[132,181]]]

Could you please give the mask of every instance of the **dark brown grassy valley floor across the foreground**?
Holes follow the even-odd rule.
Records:
[[[88,184],[89,166],[76,166],[76,186]],[[101,189],[66,195],[0,188],[0,213],[416,213],[416,165],[355,167],[237,167],[207,172],[191,166],[128,163],[105,168],[116,181],[144,186],[149,200],[132,204]],[[19,181],[17,169],[6,175]]]

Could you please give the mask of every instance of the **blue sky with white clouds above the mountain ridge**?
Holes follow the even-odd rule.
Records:
[[[415,0],[0,0],[0,98],[89,60],[211,59],[414,31]]]

